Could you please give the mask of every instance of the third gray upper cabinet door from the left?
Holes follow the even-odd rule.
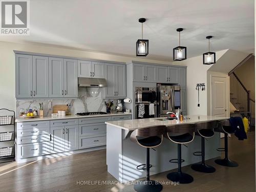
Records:
[[[49,97],[64,96],[64,63],[61,58],[49,57]]]

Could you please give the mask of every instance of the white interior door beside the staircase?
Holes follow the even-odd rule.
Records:
[[[211,115],[227,116],[227,78],[211,76]]]

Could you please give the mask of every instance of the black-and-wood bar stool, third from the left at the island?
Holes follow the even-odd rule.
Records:
[[[201,156],[201,163],[191,165],[193,170],[203,173],[214,173],[215,168],[205,164],[205,138],[214,136],[214,128],[217,127],[218,121],[201,122],[196,124],[196,135],[201,136],[201,152],[193,153],[195,156]]]

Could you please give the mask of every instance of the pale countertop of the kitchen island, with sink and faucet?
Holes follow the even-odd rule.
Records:
[[[198,123],[206,122],[213,120],[225,120],[229,119],[228,117],[219,117],[219,116],[207,116],[207,115],[190,115],[190,119],[184,119],[183,121],[178,120],[157,120],[157,119],[166,119],[166,117],[160,118],[148,118],[148,119],[131,119],[131,120],[120,120],[120,121],[108,121],[106,124],[118,127],[123,130],[133,131],[136,129],[141,129],[150,126],[156,125],[175,125],[175,124],[188,124],[188,123]]]

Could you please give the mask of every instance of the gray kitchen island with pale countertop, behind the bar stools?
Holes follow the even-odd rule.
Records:
[[[121,121],[109,121],[106,123],[106,164],[108,172],[120,182],[132,181],[145,177],[143,170],[136,167],[145,163],[146,151],[130,139],[131,133],[136,129],[145,127],[177,124],[207,122],[213,120],[225,120],[226,117],[193,115],[183,121],[166,120],[165,118],[133,119]],[[205,142],[205,159],[220,156],[216,148],[220,147],[220,134]],[[177,168],[176,163],[169,163],[170,159],[177,158],[177,144],[164,138],[160,146],[151,150],[150,163],[153,165],[150,174],[165,172]],[[194,152],[201,151],[201,138],[196,136],[193,142],[182,145],[182,166],[193,164],[201,160],[201,156],[194,156]]]

